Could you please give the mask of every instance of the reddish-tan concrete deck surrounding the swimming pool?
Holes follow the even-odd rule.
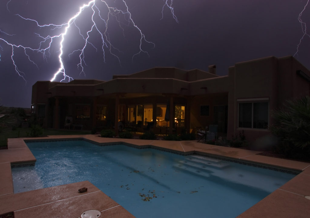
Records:
[[[237,218],[308,218],[310,216],[310,163],[257,155],[259,151],[203,144],[196,141],[162,141],[120,138],[101,138],[97,135],[65,135],[8,140],[8,149],[0,150],[0,215],[14,211],[15,218],[59,217],[78,218],[87,210],[101,211],[100,217],[134,218],[121,205],[113,201],[88,181],[60,185],[14,194],[11,166],[35,163],[24,140],[84,138],[97,143],[126,143],[135,146],[153,146],[179,153],[196,152],[259,164],[265,167],[301,172],[263,200],[237,216]],[[78,189],[87,187],[87,192]],[[229,196],[228,196],[229,197]],[[186,205],[186,203],[184,203]],[[207,211],[206,211],[207,214]],[[194,217],[194,214],[193,214]]]

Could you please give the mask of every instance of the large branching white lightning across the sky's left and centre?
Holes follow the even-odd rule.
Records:
[[[174,14],[174,8],[172,7],[173,0],[170,0],[169,3],[168,3],[168,1],[169,0],[164,0],[164,5],[162,7],[162,19],[163,19],[164,7],[168,7],[170,9],[171,14],[172,14],[173,18],[175,19],[175,21],[179,22],[177,17]],[[11,2],[11,0],[9,0],[7,2],[7,10],[8,11],[10,11],[9,6],[8,6],[10,2]],[[116,0],[114,2],[116,2]],[[17,44],[12,43],[11,41],[9,41],[6,38],[9,38],[10,36],[13,36],[14,34],[9,34],[9,33],[6,33],[6,32],[3,32],[2,30],[0,30],[0,33],[3,33],[2,35],[5,36],[5,37],[0,37],[0,41],[4,42],[8,46],[11,46],[11,48],[12,48],[11,60],[12,60],[12,63],[15,67],[15,72],[26,81],[25,73],[22,72],[17,67],[17,63],[16,63],[15,58],[14,58],[15,52],[17,52],[16,50],[18,48],[23,49],[24,54],[27,57],[27,59],[29,60],[29,62],[34,64],[38,68],[38,65],[30,58],[29,52],[41,53],[43,56],[43,59],[45,61],[47,61],[47,58],[50,57],[50,48],[51,48],[52,44],[59,43],[59,44],[57,44],[58,45],[57,47],[59,48],[59,55],[58,55],[59,68],[54,73],[53,77],[51,78],[51,81],[55,81],[56,77],[60,74],[62,74],[62,79],[60,81],[64,81],[66,79],[68,79],[68,81],[73,80],[73,78],[71,76],[68,76],[66,74],[65,64],[64,64],[64,59],[63,59],[64,44],[65,44],[66,36],[68,35],[68,32],[70,30],[72,30],[73,28],[76,28],[78,30],[78,32],[79,32],[78,37],[82,38],[84,41],[82,43],[82,46],[80,46],[80,47],[77,46],[77,49],[73,50],[69,54],[69,57],[71,55],[73,55],[73,53],[79,54],[79,63],[77,64],[77,68],[80,69],[80,75],[81,74],[85,75],[84,67],[87,66],[85,59],[84,59],[86,47],[91,46],[96,51],[98,50],[98,48],[94,44],[91,43],[91,40],[90,40],[90,37],[91,37],[90,33],[91,32],[97,32],[101,37],[101,48],[100,49],[103,52],[104,63],[106,61],[105,60],[106,52],[108,52],[110,55],[112,55],[114,58],[116,58],[118,60],[119,64],[121,64],[121,60],[117,56],[117,52],[121,52],[121,50],[112,44],[112,41],[110,39],[109,32],[108,32],[108,27],[110,25],[110,20],[112,20],[112,18],[117,20],[117,22],[119,24],[119,28],[121,28],[124,37],[125,37],[125,30],[123,28],[124,26],[135,28],[140,35],[138,52],[132,56],[132,61],[134,60],[136,55],[139,55],[141,53],[144,53],[144,54],[148,55],[148,57],[149,57],[148,52],[143,49],[143,44],[144,43],[150,44],[153,46],[153,48],[155,47],[155,44],[151,41],[148,41],[146,39],[144,33],[142,32],[142,30],[135,24],[134,20],[132,19],[129,8],[126,4],[126,1],[125,0],[119,0],[119,2],[121,2],[123,4],[122,10],[118,9],[117,7],[110,7],[108,2],[104,1],[104,0],[89,1],[88,3],[82,5],[79,8],[79,11],[74,16],[69,18],[69,20],[67,22],[64,22],[62,24],[39,24],[39,22],[37,20],[25,18],[20,14],[16,14],[16,16],[18,16],[20,19],[35,23],[38,28],[50,28],[51,33],[50,33],[50,35],[45,35],[45,36],[43,36],[39,33],[35,33],[35,35],[40,39],[38,47],[30,47],[30,46],[23,46],[23,45],[17,45]],[[105,8],[108,10],[106,18],[103,18],[103,15],[101,14],[101,11],[99,9],[100,8],[99,4],[103,4],[105,6]],[[90,16],[91,26],[88,28],[86,33],[83,34],[81,31],[81,27],[78,26],[76,21],[78,20],[79,16],[81,16],[81,14],[83,13],[83,11],[86,8],[91,9],[91,16]],[[124,22],[124,20],[125,20],[125,22]],[[60,33],[55,34],[54,32],[57,32],[57,33],[60,32]],[[0,46],[0,48],[1,48],[1,50],[3,50],[3,48],[1,46]],[[0,58],[1,58],[1,55],[0,55]],[[0,59],[0,61],[1,61],[1,59]]]

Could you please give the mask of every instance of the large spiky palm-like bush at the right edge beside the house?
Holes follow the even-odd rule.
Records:
[[[269,130],[278,137],[276,151],[290,158],[310,159],[310,97],[286,101],[272,113]]]

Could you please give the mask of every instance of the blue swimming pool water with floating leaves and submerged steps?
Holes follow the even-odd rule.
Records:
[[[12,168],[15,193],[88,180],[137,218],[236,217],[294,177],[124,145],[82,140],[27,145],[37,162]]]

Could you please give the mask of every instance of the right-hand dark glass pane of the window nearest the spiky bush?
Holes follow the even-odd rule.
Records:
[[[268,128],[268,102],[253,103],[253,128]]]

